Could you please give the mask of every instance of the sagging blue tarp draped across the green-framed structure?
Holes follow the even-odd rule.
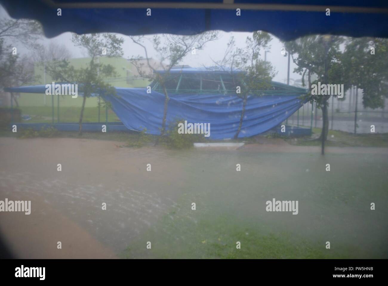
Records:
[[[128,129],[147,129],[149,134],[160,134],[165,96],[146,89],[116,88],[116,96],[105,96],[112,109]],[[239,138],[268,131],[291,116],[303,104],[293,95],[249,96]],[[167,124],[176,120],[188,123],[210,123],[211,139],[233,138],[239,126],[242,99],[232,94],[170,94]]]

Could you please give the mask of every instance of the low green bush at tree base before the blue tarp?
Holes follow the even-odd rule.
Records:
[[[188,149],[192,148],[195,142],[203,142],[203,134],[179,134],[178,124],[184,123],[183,119],[177,119],[169,124],[166,136],[163,136],[161,142],[171,149]]]

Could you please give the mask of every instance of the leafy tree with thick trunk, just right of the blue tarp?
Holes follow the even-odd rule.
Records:
[[[308,85],[317,82],[321,84],[340,84],[343,83],[344,67],[341,64],[340,44],[343,43],[343,37],[332,35],[311,35],[298,38],[291,42],[285,42],[286,51],[288,51],[297,65],[294,72],[308,75]],[[317,80],[311,82],[311,75],[315,73]],[[348,89],[345,86],[345,90]],[[329,130],[328,100],[331,95],[312,95],[308,96],[310,102],[315,101],[318,108],[322,109],[323,127],[319,139],[321,140],[321,153],[324,154],[325,141]]]

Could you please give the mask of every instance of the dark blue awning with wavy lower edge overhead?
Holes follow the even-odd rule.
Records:
[[[377,0],[0,0],[11,17],[40,21],[46,37],[114,32],[123,35],[208,30],[388,37],[388,1]],[[178,9],[179,8],[179,9]],[[241,16],[236,9],[241,9]],[[330,16],[326,16],[326,9]],[[57,16],[62,9],[62,16]],[[147,16],[151,9],[151,16]]]

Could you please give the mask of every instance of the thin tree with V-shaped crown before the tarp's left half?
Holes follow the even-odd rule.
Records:
[[[130,36],[133,43],[142,47],[146,60],[146,63],[144,63],[144,58],[142,56],[136,56],[132,58],[131,63],[137,69],[140,77],[156,80],[165,95],[161,136],[166,132],[166,117],[169,101],[166,81],[169,79],[171,68],[181,63],[189,52],[202,50],[206,43],[216,40],[217,35],[217,32],[211,31],[190,36],[163,34],[161,36],[156,35],[152,39],[148,39],[144,36]],[[153,50],[157,54],[157,58],[161,63],[161,68],[164,70],[163,73],[157,72],[150,62],[149,51],[145,46],[145,41],[147,40],[151,40]]]

